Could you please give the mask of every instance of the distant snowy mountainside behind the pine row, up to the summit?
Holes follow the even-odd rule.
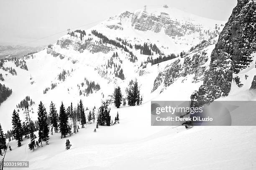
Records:
[[[152,25],[156,24],[147,23],[147,20],[151,20],[151,17],[161,18],[163,17],[162,15],[168,21],[162,24],[161,31],[156,32],[154,29],[142,29],[143,27],[151,28]],[[141,18],[142,16],[143,18]],[[137,18],[136,21],[135,18]],[[175,26],[176,30],[171,29],[174,35],[170,36],[164,30],[168,30],[169,28],[167,27],[174,24],[172,23],[173,21],[178,23]],[[123,29],[109,27],[119,22],[123,25]],[[156,22],[162,23],[163,21],[159,20]],[[136,28],[136,25],[141,24],[144,26]],[[185,27],[183,24],[187,26]],[[218,26],[215,26],[215,24]],[[200,18],[174,8],[161,7],[148,8],[147,12],[138,10],[134,13],[125,12],[117,15],[89,30],[85,30],[86,35],[83,35],[82,40],[80,39],[79,32],[74,32],[73,36],[64,35],[51,47],[24,57],[28,71],[15,67],[14,61],[5,62],[3,67],[15,68],[17,75],[11,75],[0,69],[0,73],[4,75],[5,79],[1,83],[13,90],[13,94],[0,107],[1,113],[8,113],[0,114],[1,119],[4,120],[3,122],[1,121],[1,124],[4,130],[11,128],[11,113],[13,109],[17,109],[15,106],[26,96],[30,96],[36,102],[33,109],[36,109],[41,100],[47,107],[53,101],[57,104],[58,108],[61,101],[69,105],[71,102],[77,102],[81,98],[86,107],[92,108],[100,105],[103,96],[108,98],[108,95],[113,93],[114,87],[117,85],[125,93],[125,88],[128,87],[131,80],[138,80],[144,102],[148,102],[159,94],[159,92],[151,94],[155,78],[159,72],[164,70],[166,65],[173,61],[168,60],[159,63],[159,65],[155,64],[152,66],[150,63],[145,63],[141,67],[141,62],[146,62],[148,55],[142,55],[141,50],[135,49],[135,45],[143,45],[144,43],[149,45],[152,43],[156,44],[160,52],[166,56],[172,53],[179,55],[180,52],[187,52],[202,40],[208,40],[211,36],[218,37],[218,31],[223,28],[223,26],[220,26],[222,24],[224,24],[222,21]],[[197,29],[194,30],[195,27]],[[220,30],[215,27],[220,27]],[[178,34],[179,31],[177,32],[177,29],[184,32],[184,35]],[[126,41],[132,45],[132,48],[124,46],[137,57],[137,60],[130,62],[131,55],[128,52],[115,45],[102,43],[99,37],[92,34],[92,30],[97,30],[110,40],[121,38],[123,41]],[[208,30],[211,35],[208,33]],[[217,39],[215,38],[215,40]],[[122,41],[116,41],[122,44]],[[212,42],[211,44],[214,43]],[[119,56],[112,57],[113,52],[117,52]],[[149,58],[155,59],[159,57],[159,54],[153,53],[154,55],[149,56]],[[106,68],[108,61],[113,61],[118,67],[120,65],[120,69],[123,69],[125,80],[115,77],[113,65],[111,66],[112,68]],[[58,75],[63,70],[69,72],[64,82],[57,80]],[[30,80],[31,76],[32,80]],[[83,90],[85,88],[81,85],[82,82],[85,82],[84,78],[99,83],[101,89],[89,96],[84,96]],[[51,84],[55,83],[57,86],[51,90]],[[46,88],[50,88],[50,90],[44,94]],[[82,95],[79,95],[80,90],[82,90]],[[189,98],[186,98],[186,100],[189,100]],[[20,114],[22,114],[23,111],[19,110]],[[34,114],[36,117],[36,112]]]

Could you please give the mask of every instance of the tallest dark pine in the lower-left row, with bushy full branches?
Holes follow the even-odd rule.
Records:
[[[44,107],[43,103],[40,101],[38,105],[38,137],[41,141],[41,146],[43,146],[42,141],[46,142],[49,140],[49,125],[47,123],[47,112],[46,108]]]

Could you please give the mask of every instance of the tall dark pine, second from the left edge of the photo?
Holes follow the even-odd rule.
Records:
[[[13,136],[16,140],[18,140],[18,147],[21,146],[22,141],[22,125],[20,121],[19,114],[13,110],[13,116],[12,116],[12,124],[13,124]]]

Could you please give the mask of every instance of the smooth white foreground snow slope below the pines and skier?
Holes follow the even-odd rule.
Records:
[[[59,133],[50,135],[49,145],[34,152],[28,150],[29,139],[20,148],[12,141],[13,150],[7,151],[6,160],[30,161],[31,170],[255,168],[256,128],[153,127],[150,109],[145,110],[150,105],[145,105],[120,108],[118,125],[100,127],[94,133],[95,124],[91,124],[67,137],[72,144],[70,150],[64,150],[66,140]]]

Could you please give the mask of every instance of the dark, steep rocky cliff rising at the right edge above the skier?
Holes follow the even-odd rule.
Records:
[[[233,73],[239,73],[255,64],[252,63],[251,55],[256,51],[255,28],[256,0],[238,0],[212,51],[210,69],[205,74],[204,84],[191,95],[192,105],[202,105],[227,96]]]

